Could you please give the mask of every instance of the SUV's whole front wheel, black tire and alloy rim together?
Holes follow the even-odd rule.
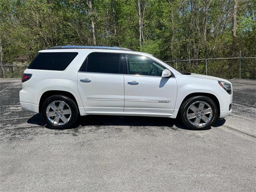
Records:
[[[218,117],[218,108],[214,101],[206,96],[194,96],[180,107],[182,122],[190,129],[205,130]]]

